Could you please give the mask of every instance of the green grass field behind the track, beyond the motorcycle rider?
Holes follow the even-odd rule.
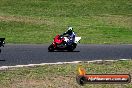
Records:
[[[50,43],[73,26],[81,43],[132,43],[131,0],[0,0],[0,37]]]

